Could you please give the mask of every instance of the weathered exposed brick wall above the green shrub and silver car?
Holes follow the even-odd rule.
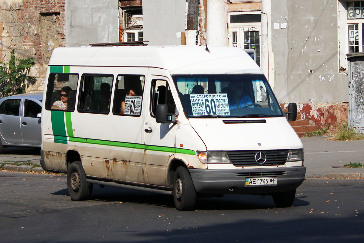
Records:
[[[27,91],[43,90],[50,53],[64,46],[65,0],[8,0],[0,3],[0,60],[33,58],[37,79]],[[51,27],[53,26],[53,27]]]

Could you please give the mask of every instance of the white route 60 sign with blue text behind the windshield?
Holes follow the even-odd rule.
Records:
[[[190,94],[193,115],[230,115],[227,94]]]

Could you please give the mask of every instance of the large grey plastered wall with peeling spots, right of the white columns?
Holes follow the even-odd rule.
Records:
[[[337,1],[275,0],[271,3],[274,54],[271,70],[278,100],[348,102],[348,77],[339,72]]]

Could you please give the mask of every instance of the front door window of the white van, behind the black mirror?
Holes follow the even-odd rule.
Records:
[[[167,104],[168,113],[176,113],[176,105],[174,103],[172,92],[167,81],[154,79],[152,81],[151,92],[152,102],[150,107],[150,113],[153,117],[155,117],[155,108],[159,104]]]

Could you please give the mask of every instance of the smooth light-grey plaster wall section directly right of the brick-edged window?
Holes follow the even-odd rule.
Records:
[[[149,46],[181,45],[185,32],[186,1],[143,0],[143,39]]]

